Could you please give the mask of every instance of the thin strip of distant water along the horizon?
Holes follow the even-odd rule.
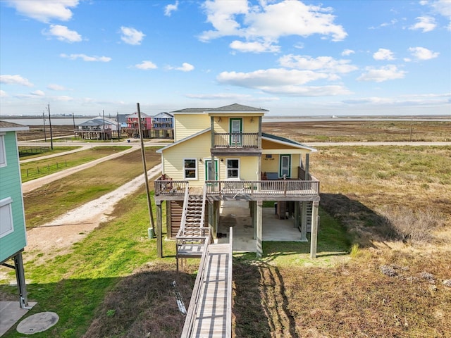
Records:
[[[84,118],[75,118],[75,125],[83,123],[87,120],[94,118],[95,116],[85,116]],[[113,117],[114,118],[114,117]],[[18,123],[19,125],[44,125],[42,118],[1,118],[0,120]],[[263,122],[320,122],[320,121],[447,121],[451,122],[451,116],[387,116],[387,117],[371,117],[371,116],[349,116],[349,117],[318,117],[314,116],[306,118],[305,116],[266,116],[263,118]],[[73,118],[60,118],[52,117],[51,125],[73,125]],[[45,125],[49,125],[49,119],[46,118]]]

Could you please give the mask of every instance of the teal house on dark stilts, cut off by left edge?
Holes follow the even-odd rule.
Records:
[[[21,308],[28,306],[22,260],[27,234],[16,132],[28,129],[0,121],[0,264],[16,270]],[[11,259],[14,265],[7,263]]]

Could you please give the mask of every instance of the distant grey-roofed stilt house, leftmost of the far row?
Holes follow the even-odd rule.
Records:
[[[90,120],[80,123],[75,128],[75,137],[82,139],[111,139],[118,137],[118,130],[121,127],[115,120],[96,116]]]

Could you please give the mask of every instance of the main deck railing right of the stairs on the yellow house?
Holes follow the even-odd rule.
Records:
[[[318,180],[206,181],[206,194],[317,196]]]

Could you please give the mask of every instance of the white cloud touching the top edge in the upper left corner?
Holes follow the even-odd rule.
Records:
[[[67,21],[72,18],[69,8],[78,6],[78,0],[8,0],[8,4],[16,8],[21,15],[42,23],[50,20]]]

